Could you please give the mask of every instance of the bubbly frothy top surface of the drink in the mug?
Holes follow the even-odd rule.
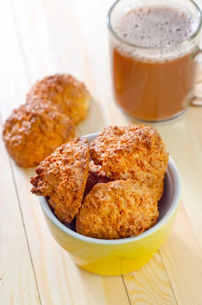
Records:
[[[129,11],[119,20],[116,32],[122,38],[127,35],[129,43],[145,47],[151,47],[154,43],[160,47],[160,42],[166,46],[171,38],[174,38],[173,44],[182,42],[182,34],[191,36],[197,25],[198,22],[190,14],[182,13],[177,8],[156,6]],[[144,45],[141,41],[142,31],[146,34]]]

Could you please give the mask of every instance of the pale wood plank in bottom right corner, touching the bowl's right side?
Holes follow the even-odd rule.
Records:
[[[160,254],[178,303],[201,305],[202,252],[183,206]]]

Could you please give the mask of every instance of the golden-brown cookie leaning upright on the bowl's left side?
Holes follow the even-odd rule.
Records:
[[[88,140],[75,138],[57,148],[36,168],[31,192],[49,196],[58,219],[70,223],[81,206],[88,170]]]

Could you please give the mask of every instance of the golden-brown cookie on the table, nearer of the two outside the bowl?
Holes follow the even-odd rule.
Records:
[[[49,101],[13,110],[3,132],[9,155],[22,167],[37,166],[74,136],[72,120]]]

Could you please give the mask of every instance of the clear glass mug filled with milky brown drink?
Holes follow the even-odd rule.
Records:
[[[127,12],[158,5],[193,15],[197,26],[188,39],[165,47],[147,47],[117,34],[117,22]],[[113,92],[117,104],[127,114],[142,121],[164,121],[194,105],[201,12],[192,0],[118,0],[108,12],[107,26]]]

